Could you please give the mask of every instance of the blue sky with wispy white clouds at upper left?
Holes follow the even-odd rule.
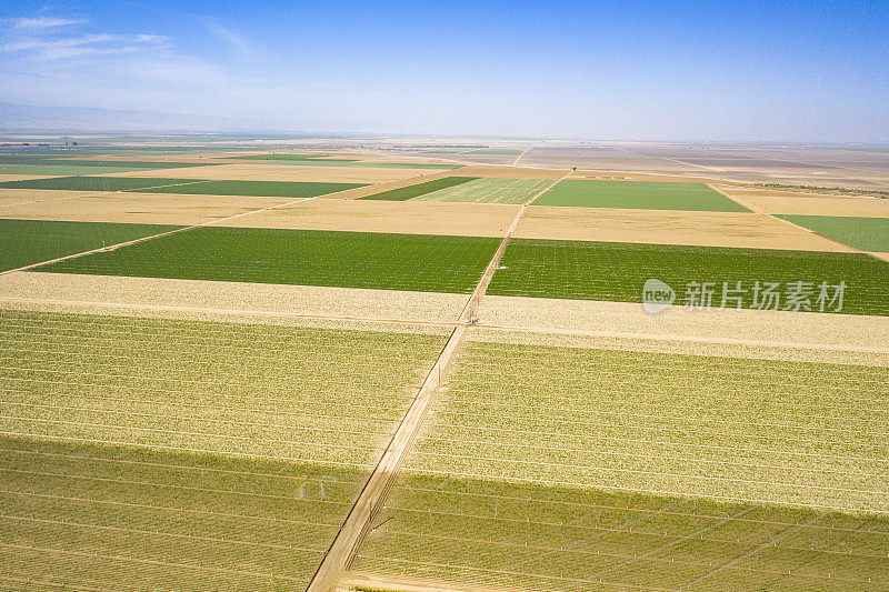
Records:
[[[0,0],[0,101],[312,132],[889,143],[889,1]]]

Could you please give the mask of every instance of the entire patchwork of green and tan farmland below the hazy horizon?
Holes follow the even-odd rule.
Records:
[[[0,183],[0,588],[889,590],[883,200],[762,146],[151,143],[0,154],[94,159]]]

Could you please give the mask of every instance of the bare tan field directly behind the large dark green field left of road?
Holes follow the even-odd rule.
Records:
[[[502,237],[519,208],[500,203],[313,199],[220,225]]]

